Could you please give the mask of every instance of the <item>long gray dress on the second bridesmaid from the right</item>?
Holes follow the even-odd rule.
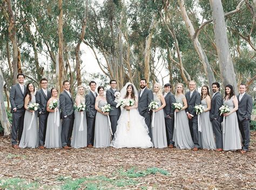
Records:
[[[204,109],[207,109],[206,100],[201,100],[201,104],[203,105]],[[212,130],[212,122],[210,121],[209,117],[210,111],[203,112],[199,115],[201,118],[201,142],[203,145],[203,149],[216,149],[216,144],[214,140],[213,130]]]

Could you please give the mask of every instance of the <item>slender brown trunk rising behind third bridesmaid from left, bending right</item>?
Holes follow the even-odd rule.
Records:
[[[75,54],[76,54],[76,73],[77,73],[77,86],[82,85],[82,76],[81,76],[81,58],[80,58],[80,45],[84,39],[85,36],[85,29],[86,29],[86,23],[87,23],[87,12],[88,12],[88,0],[86,0],[86,9],[85,9],[85,17],[83,20],[83,25],[82,25],[82,31],[80,34],[79,41],[77,43],[76,49],[75,49]]]

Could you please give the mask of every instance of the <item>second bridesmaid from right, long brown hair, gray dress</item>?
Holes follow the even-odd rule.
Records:
[[[203,113],[199,115],[201,117],[201,143],[203,149],[216,149],[212,122],[210,121],[209,111],[211,110],[211,96],[209,87],[204,85],[201,89],[201,104],[204,107]]]

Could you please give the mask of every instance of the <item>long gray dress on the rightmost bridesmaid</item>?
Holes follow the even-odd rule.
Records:
[[[233,103],[234,96],[228,100],[225,100],[223,103],[228,105],[230,110],[234,108]],[[232,114],[224,117],[223,127],[223,150],[239,150],[241,149],[241,139],[240,139],[240,130],[238,126],[237,113],[234,111]]]

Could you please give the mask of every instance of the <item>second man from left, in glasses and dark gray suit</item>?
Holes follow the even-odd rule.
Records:
[[[44,149],[44,140],[47,126],[47,118],[49,112],[46,111],[46,105],[51,97],[50,90],[48,87],[48,80],[43,78],[40,80],[41,89],[36,93],[36,103],[39,104],[38,108],[38,118],[39,118],[39,149]]]

